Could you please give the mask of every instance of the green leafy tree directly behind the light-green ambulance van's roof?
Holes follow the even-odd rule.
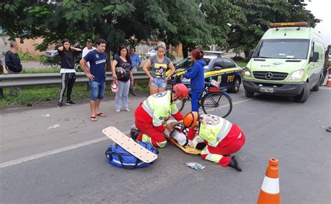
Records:
[[[308,22],[315,27],[320,20],[305,10],[301,1],[235,1],[244,13],[246,20],[239,24],[231,24],[228,34],[229,48],[236,52],[244,52],[245,56],[253,50],[272,22]]]

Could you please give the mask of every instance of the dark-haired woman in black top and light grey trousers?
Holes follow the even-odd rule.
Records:
[[[121,78],[116,74],[117,67],[125,71],[125,73],[121,75]],[[124,110],[130,112],[131,110],[128,109],[128,90],[130,89],[130,84],[133,85],[133,73],[130,54],[128,53],[126,45],[119,45],[117,55],[114,61],[112,61],[112,78],[117,80],[119,88],[115,96],[116,112],[121,111],[122,102]]]

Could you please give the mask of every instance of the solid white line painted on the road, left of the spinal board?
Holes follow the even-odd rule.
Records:
[[[130,131],[125,131],[124,132],[124,134],[127,134],[127,133],[130,133]],[[14,159],[14,160],[11,160],[11,161],[6,161],[6,162],[3,162],[3,163],[0,163],[0,168],[13,166],[13,165],[18,164],[18,163],[22,163],[22,162],[25,162],[25,161],[31,161],[31,160],[34,160],[34,159],[39,159],[39,158],[44,157],[44,156],[49,156],[49,155],[52,155],[52,154],[57,154],[57,153],[65,152],[65,151],[68,151],[68,150],[74,150],[78,147],[84,147],[84,146],[87,146],[87,145],[91,145],[91,144],[94,144],[94,143],[101,142],[103,140],[110,140],[110,139],[105,136],[105,137],[102,137],[102,138],[98,138],[98,139],[94,139],[94,140],[88,140],[88,141],[78,143],[78,144],[75,144],[75,145],[70,145],[70,146],[67,146],[67,147],[61,147],[59,149],[50,150],[50,151],[42,152],[42,153],[39,153],[39,154],[33,154],[31,156],[25,156],[25,157],[22,157],[20,159]]]

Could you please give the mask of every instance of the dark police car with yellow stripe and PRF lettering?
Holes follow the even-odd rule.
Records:
[[[210,54],[211,53],[211,54]],[[241,72],[242,68],[238,66],[235,61],[229,57],[223,57],[219,54],[215,55],[214,52],[205,51],[203,59],[206,62],[205,68],[205,81],[216,80],[219,83],[219,87],[226,89],[230,92],[237,93],[241,85]],[[182,61],[179,61],[176,65],[176,72],[172,75],[168,82],[168,87],[172,84],[182,82],[187,87],[190,87],[190,80],[182,78],[186,69],[193,66],[191,57],[186,57]],[[170,72],[170,71],[169,71]]]

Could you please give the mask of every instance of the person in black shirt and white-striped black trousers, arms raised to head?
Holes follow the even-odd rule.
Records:
[[[66,92],[66,105],[75,105],[73,101],[71,101],[71,92],[73,90],[73,85],[76,80],[76,71],[75,71],[75,59],[74,52],[81,52],[79,48],[73,48],[70,45],[70,41],[68,39],[64,39],[62,41],[62,46],[57,48],[57,52],[59,52],[61,59],[61,75],[62,75],[62,83],[61,83],[61,91],[59,94],[59,100],[57,101],[57,107],[64,108],[63,97]],[[66,91],[67,89],[67,91]]]

